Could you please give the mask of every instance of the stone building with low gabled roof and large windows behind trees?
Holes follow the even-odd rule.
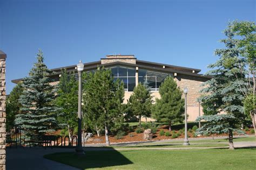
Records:
[[[104,66],[112,70],[114,79],[120,79],[125,85],[124,102],[132,94],[133,88],[139,83],[147,80],[152,90],[153,98],[159,98],[158,92],[161,82],[164,81],[166,76],[173,76],[180,89],[188,88],[187,94],[187,112],[188,121],[194,121],[200,113],[203,114],[197,98],[200,96],[200,84],[209,80],[210,77],[199,74],[200,69],[187,68],[180,66],[172,66],[163,63],[149,62],[137,60],[134,55],[107,55],[99,61],[89,62],[84,64],[84,71],[90,72],[97,69],[97,67]],[[58,83],[61,69],[65,68],[68,72],[76,72],[76,65],[67,66],[62,68],[51,69],[55,72],[52,78],[56,80],[54,84]],[[12,80],[18,83],[22,79]],[[150,120],[150,119],[147,119]]]

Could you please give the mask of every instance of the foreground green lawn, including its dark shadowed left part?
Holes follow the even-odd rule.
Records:
[[[53,153],[45,158],[80,169],[255,169],[256,149],[87,151]]]

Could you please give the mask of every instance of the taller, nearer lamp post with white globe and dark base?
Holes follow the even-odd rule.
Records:
[[[82,72],[84,70],[84,64],[80,60],[77,64],[77,72],[79,77],[78,84],[78,135],[77,135],[77,148],[76,154],[83,155],[84,149],[82,146]]]

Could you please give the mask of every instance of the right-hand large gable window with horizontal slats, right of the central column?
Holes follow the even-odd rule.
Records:
[[[158,91],[162,82],[169,76],[167,73],[154,72],[152,70],[139,69],[139,82],[147,82],[152,91]]]

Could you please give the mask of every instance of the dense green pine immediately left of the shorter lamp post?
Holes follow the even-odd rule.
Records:
[[[161,98],[156,99],[152,109],[153,117],[159,122],[168,122],[171,131],[171,122],[182,122],[184,119],[184,99],[182,91],[171,76],[166,77],[160,85]]]

